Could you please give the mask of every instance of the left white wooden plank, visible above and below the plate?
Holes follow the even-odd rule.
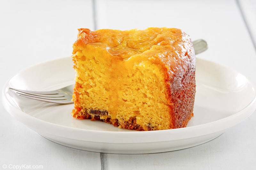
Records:
[[[70,56],[77,28],[93,29],[92,13],[91,1],[1,1],[0,89],[21,69]],[[16,121],[4,110],[1,99],[0,103],[0,169],[3,164],[43,165],[44,169],[101,168],[100,153],[47,140]]]

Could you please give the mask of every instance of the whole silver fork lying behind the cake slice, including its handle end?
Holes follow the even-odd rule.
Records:
[[[207,43],[204,40],[196,40],[196,41],[193,41],[192,43],[194,46],[195,54],[202,53],[208,48]],[[59,103],[59,104],[71,104],[73,103],[73,101],[71,101],[73,87],[74,85],[69,85],[67,87],[50,91],[50,92],[36,92],[36,91],[19,90],[14,88],[10,88],[10,89],[16,91],[20,96],[26,97],[28,99]]]

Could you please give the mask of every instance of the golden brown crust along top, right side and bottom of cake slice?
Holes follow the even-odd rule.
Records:
[[[78,31],[79,33],[77,41],[73,45],[73,54],[80,50],[81,46],[99,42],[102,44],[107,44],[110,48],[108,52],[111,54],[112,49],[118,47],[120,42],[124,41],[122,36],[129,37],[133,31],[136,32],[136,30],[119,31],[109,29],[90,31],[86,28],[80,28]],[[193,116],[196,92],[196,58],[191,39],[186,33],[176,28],[148,28],[147,30],[141,30],[140,34],[142,34],[142,37],[144,37],[143,34],[145,34],[145,36],[148,34],[153,35],[145,38],[145,42],[148,41],[151,43],[149,48],[146,48],[145,51],[140,51],[141,49],[144,50],[144,48],[141,47],[143,46],[141,45],[143,43],[140,42],[138,45],[136,42],[129,43],[128,40],[125,40],[128,42],[126,42],[126,46],[129,47],[126,49],[126,52],[130,49],[132,49],[132,55],[137,55],[143,52],[145,56],[150,56],[149,60],[152,63],[162,67],[161,70],[164,72],[166,88],[165,98],[170,108],[169,114],[172,117],[168,129],[186,127],[188,121]],[[113,57],[125,59],[127,57],[126,52],[124,51],[124,53],[122,53],[122,50],[123,49],[121,49],[121,53],[118,55],[113,55],[113,53],[111,55],[113,55]],[[137,58],[130,57],[129,60],[133,61],[137,60]],[[76,69],[76,60],[74,58],[73,61],[75,63],[74,68]],[[81,85],[76,82],[73,95],[73,100],[75,103],[75,107],[72,112],[73,117],[79,119],[101,120],[124,129],[135,129],[140,131],[152,130],[150,124],[148,124],[147,127],[141,127],[140,125],[136,124],[136,117],[131,117],[125,122],[119,122],[118,119],[111,119],[110,117],[100,119],[100,114],[106,114],[108,111],[92,109],[87,110],[86,108],[82,108],[78,101],[80,94],[78,93],[77,89],[80,87]],[[84,109],[83,115],[78,114],[81,112],[81,109]]]

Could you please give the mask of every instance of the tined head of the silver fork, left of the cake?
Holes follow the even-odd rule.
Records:
[[[58,104],[71,104],[73,101],[72,93],[73,93],[74,85],[69,85],[67,87],[63,87],[58,90],[48,91],[48,92],[38,92],[38,91],[28,91],[28,90],[20,90],[15,88],[10,88],[16,91],[22,97],[26,97],[28,99],[34,99],[39,101],[46,101],[51,103]]]

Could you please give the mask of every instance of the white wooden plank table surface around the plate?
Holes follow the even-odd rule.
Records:
[[[177,27],[209,49],[197,57],[234,68],[256,85],[256,1],[0,1],[0,89],[19,70],[71,55],[77,28]],[[1,100],[1,99],[0,99]],[[256,114],[220,137],[173,152],[122,155],[53,143],[0,102],[0,169],[256,169]],[[11,166],[10,166],[11,165]],[[3,166],[4,167],[4,166]]]

